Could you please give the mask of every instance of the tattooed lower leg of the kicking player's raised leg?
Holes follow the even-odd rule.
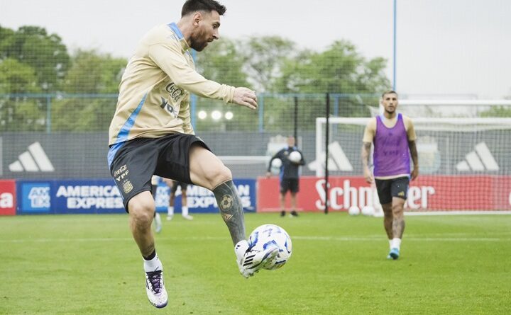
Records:
[[[232,180],[221,183],[213,188],[220,214],[229,228],[233,244],[246,239],[243,206]]]

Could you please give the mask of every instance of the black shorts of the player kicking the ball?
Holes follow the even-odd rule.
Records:
[[[153,174],[182,183],[192,183],[189,178],[189,148],[192,144],[211,151],[202,139],[193,134],[136,138],[118,149],[110,165],[110,173],[123,197],[126,212],[133,196],[151,191]]]

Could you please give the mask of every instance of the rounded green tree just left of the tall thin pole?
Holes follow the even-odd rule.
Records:
[[[338,98],[343,115],[366,116],[366,102],[358,95],[378,95],[390,88],[390,81],[385,76],[386,60],[380,57],[366,60],[350,42],[334,42],[324,52],[304,50],[294,59],[287,59],[282,66],[282,74],[275,81],[275,88],[283,93],[332,93],[342,94]],[[378,103],[374,100],[368,103]],[[313,128],[314,119],[324,116],[325,97],[309,97],[300,106],[300,126]],[[275,117],[290,117],[293,108],[277,103],[273,106]],[[267,113],[265,113],[265,118]],[[268,121],[270,117],[268,117]],[[282,122],[274,120],[275,125]]]

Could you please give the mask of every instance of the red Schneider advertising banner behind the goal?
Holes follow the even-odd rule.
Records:
[[[323,178],[300,178],[300,210],[324,210],[324,183]],[[289,196],[286,200],[289,205]],[[328,200],[334,211],[379,203],[376,188],[361,176],[331,176]],[[258,178],[257,204],[258,212],[280,210],[278,178]],[[511,176],[419,176],[410,183],[405,210],[511,210]]]

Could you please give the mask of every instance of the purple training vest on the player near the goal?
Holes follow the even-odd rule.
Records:
[[[409,174],[410,176],[408,136],[401,114],[397,115],[397,122],[392,128],[385,126],[380,116],[377,116],[376,134],[373,142],[374,176],[400,174]]]

